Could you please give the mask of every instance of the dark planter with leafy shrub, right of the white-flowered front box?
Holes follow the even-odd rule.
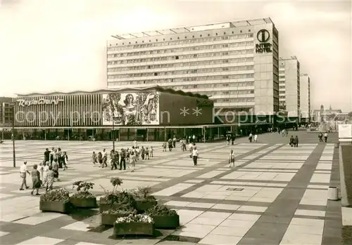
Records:
[[[146,211],[148,216],[154,220],[154,225],[158,229],[175,229],[180,226],[180,216],[175,210],[165,205],[158,204]]]

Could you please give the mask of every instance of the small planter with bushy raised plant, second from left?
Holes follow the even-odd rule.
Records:
[[[89,192],[93,189],[94,183],[84,181],[76,181],[73,183],[73,188],[77,192],[70,197],[71,204],[77,208],[96,208],[96,197]]]

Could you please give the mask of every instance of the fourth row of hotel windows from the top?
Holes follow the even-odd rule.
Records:
[[[244,62],[253,62],[253,57],[235,58],[235,59],[229,59],[229,60],[202,60],[202,61],[194,61],[194,62],[180,62],[180,63],[156,64],[156,65],[136,65],[132,67],[111,67],[111,68],[108,68],[108,72],[121,72],[121,71],[141,70],[141,69],[190,67],[195,65],[218,65],[223,63],[244,63]]]

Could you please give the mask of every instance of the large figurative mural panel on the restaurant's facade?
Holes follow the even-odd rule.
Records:
[[[159,124],[159,92],[103,94],[103,125]]]

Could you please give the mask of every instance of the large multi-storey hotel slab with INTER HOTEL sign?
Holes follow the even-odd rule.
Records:
[[[112,37],[109,89],[159,85],[205,94],[220,116],[279,111],[279,40],[270,18]]]

